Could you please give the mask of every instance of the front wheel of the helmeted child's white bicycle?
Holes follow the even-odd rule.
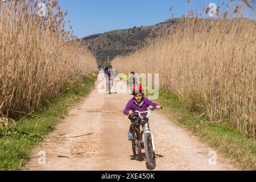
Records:
[[[152,170],[155,169],[155,152],[153,151],[151,135],[146,134],[144,140],[144,147],[145,147],[145,155],[147,159],[147,168]]]

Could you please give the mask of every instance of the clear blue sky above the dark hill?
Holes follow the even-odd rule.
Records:
[[[226,2],[228,0],[222,0]],[[208,0],[209,3],[218,0]],[[59,0],[68,10],[74,34],[79,38],[111,30],[149,26],[187,13],[187,0]],[[191,9],[200,9],[205,0],[191,0]],[[170,7],[173,7],[172,11]]]

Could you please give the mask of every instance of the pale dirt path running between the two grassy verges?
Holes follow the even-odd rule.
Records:
[[[24,169],[146,170],[145,161],[130,159],[130,122],[122,114],[130,98],[129,94],[100,94],[95,88],[46,136]],[[174,125],[160,111],[151,114],[150,125],[156,145],[155,170],[236,170],[219,154],[217,164],[209,164],[212,149]],[[39,151],[46,153],[46,164],[38,163]]]

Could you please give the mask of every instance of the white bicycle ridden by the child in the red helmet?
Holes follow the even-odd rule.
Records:
[[[163,107],[161,106],[161,109]],[[141,159],[141,151],[142,149],[145,150],[146,160],[147,160],[147,168],[148,169],[155,169],[156,163],[155,163],[155,142],[154,142],[154,136],[152,132],[150,131],[149,126],[149,119],[150,111],[156,110],[155,107],[150,106],[147,111],[135,111],[135,113],[129,114],[129,119],[133,121],[133,130],[131,133],[133,133],[134,139],[131,141],[131,146],[133,150],[133,156],[136,160]],[[147,113],[146,117],[142,117],[141,114]],[[133,115],[138,114],[139,117]],[[143,130],[141,131],[141,126],[143,127]]]

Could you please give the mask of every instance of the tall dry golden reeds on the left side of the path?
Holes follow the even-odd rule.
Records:
[[[71,30],[56,0],[0,3],[0,111],[28,113],[56,97],[67,82],[96,71],[96,59]]]

